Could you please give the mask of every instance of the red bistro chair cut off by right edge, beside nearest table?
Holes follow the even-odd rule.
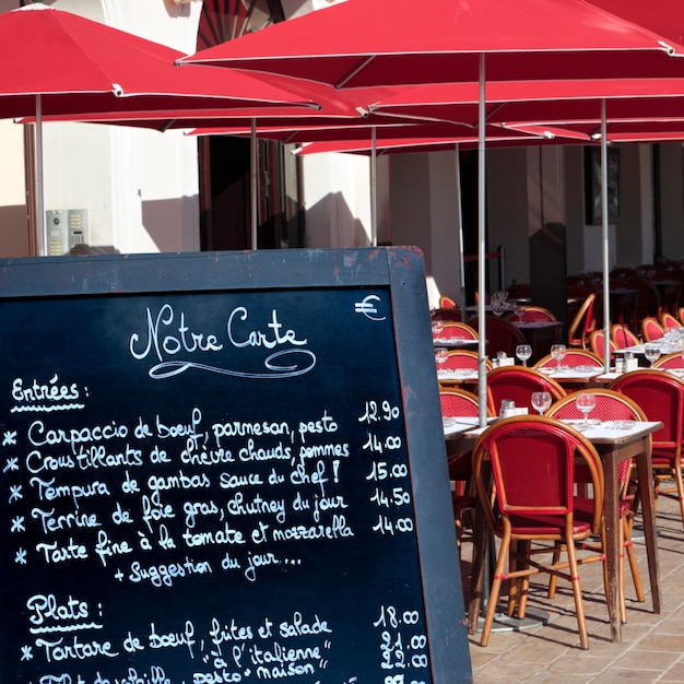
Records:
[[[674,487],[656,487],[656,495],[680,502],[684,524],[684,482],[682,481],[682,432],[684,429],[684,380],[670,373],[642,368],[615,378],[609,389],[634,400],[649,421],[663,423],[653,433],[652,463],[658,485],[674,480]]]

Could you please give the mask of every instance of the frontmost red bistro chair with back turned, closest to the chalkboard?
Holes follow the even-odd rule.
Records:
[[[593,492],[591,508],[581,519],[575,517],[577,460],[590,473]],[[486,523],[500,539],[481,645],[490,641],[502,582],[508,580],[509,615],[517,606],[518,616],[523,617],[529,577],[546,571],[570,582],[580,646],[588,648],[576,543],[602,529],[603,470],[593,446],[576,429],[552,418],[505,418],[484,431],[475,443],[473,480]],[[532,546],[534,542],[546,544],[539,549]],[[540,553],[553,554],[557,545],[567,553],[567,562],[543,564],[535,559]],[[592,553],[583,563],[589,559],[601,561],[602,556]]]

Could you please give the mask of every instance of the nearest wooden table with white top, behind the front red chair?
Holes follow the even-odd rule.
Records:
[[[564,422],[574,426],[581,423],[581,421]],[[618,425],[621,428],[618,428]],[[582,429],[582,434],[594,446],[603,464],[605,486],[603,502],[606,544],[605,564],[608,576],[606,602],[611,625],[611,640],[614,642],[622,640],[620,556],[622,554],[623,538],[620,521],[618,464],[632,458],[635,459],[637,470],[653,613],[659,614],[661,611],[650,441],[650,435],[661,427],[662,423],[660,422],[606,421],[598,425],[592,424],[591,427]],[[455,428],[449,433],[445,432],[447,452],[459,452],[472,448],[476,438],[484,429],[485,427],[473,429],[464,427],[463,429]],[[486,529],[480,505],[475,508],[474,528],[471,597],[468,609],[469,634],[474,634],[477,629],[484,581],[484,550],[490,543],[490,531]]]

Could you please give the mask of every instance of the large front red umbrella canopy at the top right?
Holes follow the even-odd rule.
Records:
[[[476,81],[481,54],[488,82],[681,76],[671,47],[680,46],[586,0],[347,0],[179,63],[339,87]]]

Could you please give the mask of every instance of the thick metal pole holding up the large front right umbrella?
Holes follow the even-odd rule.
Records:
[[[487,424],[487,356],[486,356],[486,329],[485,329],[485,72],[484,52],[480,55],[480,87],[479,87],[479,113],[477,113],[477,403],[480,426]]]

